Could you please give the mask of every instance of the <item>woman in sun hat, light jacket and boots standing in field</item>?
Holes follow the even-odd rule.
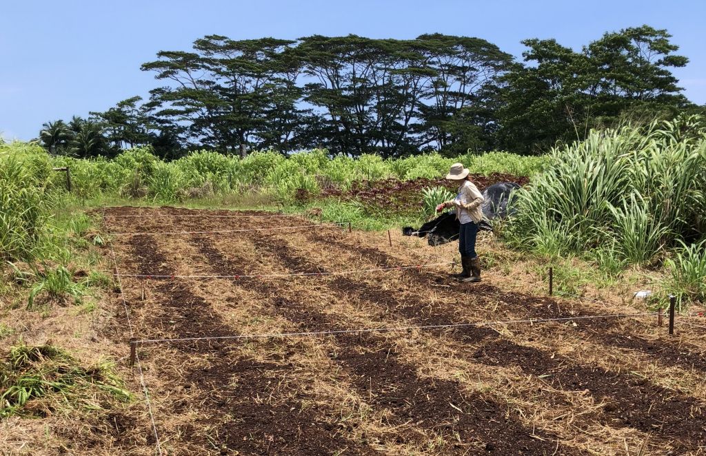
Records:
[[[481,266],[476,254],[476,235],[478,234],[478,224],[483,218],[481,203],[483,196],[478,188],[468,179],[469,171],[461,163],[454,163],[446,174],[446,179],[459,181],[458,195],[456,198],[436,206],[436,210],[455,207],[456,218],[461,224],[458,235],[458,249],[461,252],[461,265],[463,270],[455,275],[463,282],[480,282]]]

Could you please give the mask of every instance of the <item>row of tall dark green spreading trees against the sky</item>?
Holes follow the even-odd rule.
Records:
[[[146,62],[163,85],[89,119],[44,124],[52,153],[110,155],[150,144],[163,157],[194,148],[245,156],[327,148],[384,157],[425,150],[539,153],[629,116],[693,105],[672,68],[666,30],[607,32],[580,50],[525,40],[523,61],[477,37],[414,40],[313,35],[232,40],[208,35]]]

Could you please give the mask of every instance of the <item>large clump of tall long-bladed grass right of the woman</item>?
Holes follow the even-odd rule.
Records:
[[[551,151],[546,171],[516,193],[515,243],[543,253],[614,246],[650,264],[704,233],[706,128],[698,116],[592,131]]]

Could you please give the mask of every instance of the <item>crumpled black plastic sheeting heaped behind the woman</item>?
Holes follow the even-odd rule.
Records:
[[[520,188],[519,185],[513,182],[499,182],[493,184],[483,191],[483,220],[479,224],[479,229],[493,231],[493,227],[489,223],[490,220],[497,218],[505,218],[508,214],[514,213],[513,208],[508,208],[510,201],[510,193]],[[430,220],[421,225],[419,229],[412,227],[402,228],[402,234],[405,236],[425,237],[430,246],[440,246],[458,239],[458,231],[460,224],[456,220],[455,210],[445,212],[439,215],[434,220]]]

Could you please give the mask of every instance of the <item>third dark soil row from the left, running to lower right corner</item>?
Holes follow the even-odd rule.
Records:
[[[272,238],[266,243],[257,239],[254,241],[256,245],[260,243],[259,248],[268,249],[270,253],[278,256],[282,263],[289,264],[292,268],[316,268],[316,265],[308,263],[306,258],[292,253],[285,243],[275,245]],[[381,263],[391,266],[388,260]],[[402,302],[388,288],[376,287],[349,277],[337,277],[334,286],[355,293],[369,303],[382,304],[391,313],[405,316],[420,325],[444,324],[457,320],[453,306],[446,311],[442,308],[434,308],[432,311],[424,301],[407,299]],[[519,303],[510,301],[509,297],[506,294],[506,301],[503,302],[508,311],[511,311]],[[516,300],[518,298],[513,297]],[[450,334],[460,342],[484,340],[485,344],[491,347],[487,356],[483,349],[475,352],[475,361],[491,365],[518,366],[536,376],[548,375],[549,380],[546,381],[563,390],[590,391],[597,400],[604,400],[609,404],[604,407],[606,417],[603,424],[607,426],[620,424],[647,433],[659,431],[668,440],[676,440],[676,445],[681,449],[692,448],[693,445],[706,441],[706,405],[693,397],[666,390],[643,378],[613,373],[597,366],[577,364],[563,356],[540,352],[508,340],[498,341],[497,334],[488,328],[464,327],[463,330],[454,330]],[[502,348],[493,352],[492,347]],[[508,353],[509,356],[503,358],[503,353]],[[498,356],[497,359],[491,356],[493,354]],[[506,359],[506,364],[500,364],[501,361],[498,360],[501,359]]]

